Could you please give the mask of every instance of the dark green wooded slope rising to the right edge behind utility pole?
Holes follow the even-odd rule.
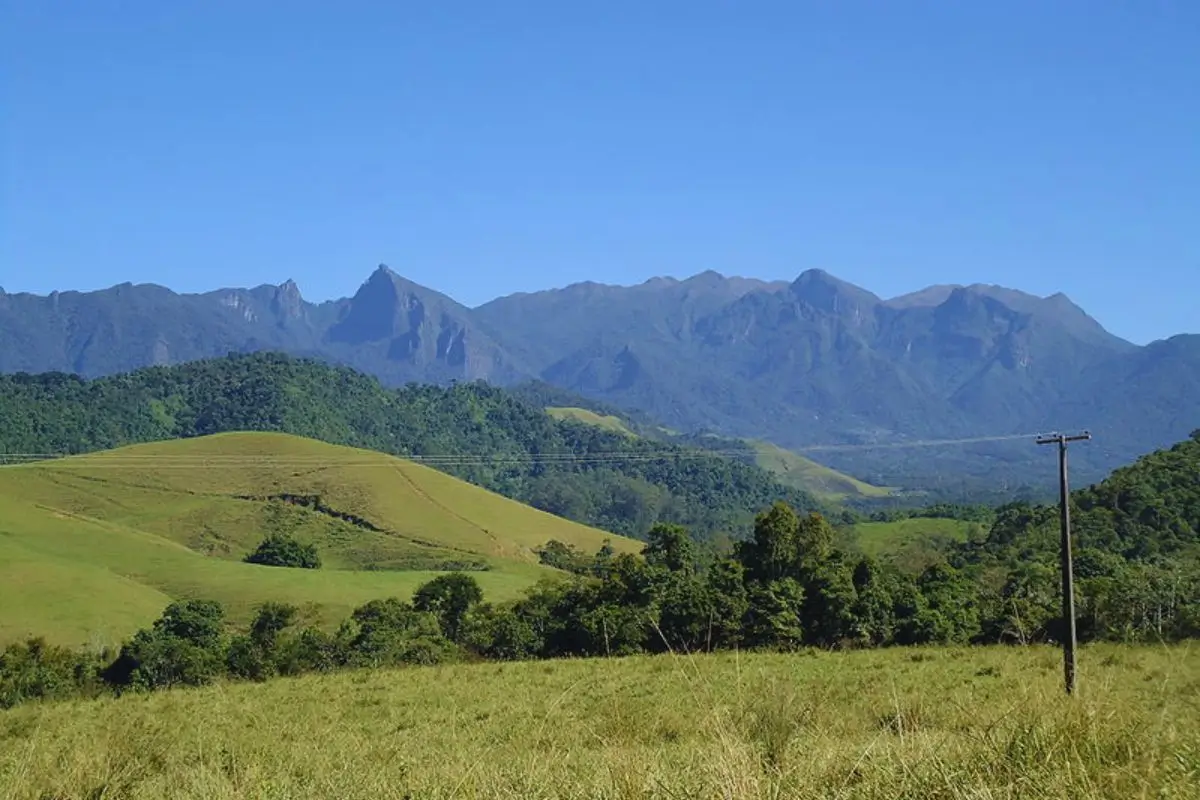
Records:
[[[1072,493],[1085,638],[1200,634],[1200,431]],[[992,608],[992,625],[1045,636],[1058,618],[1058,510],[1014,503],[952,561]],[[998,636],[998,631],[994,631]]]

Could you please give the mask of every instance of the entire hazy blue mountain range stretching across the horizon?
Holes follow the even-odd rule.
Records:
[[[936,285],[893,299],[822,271],[577,283],[468,308],[380,265],[353,297],[293,281],[176,294],[0,290],[0,372],[101,377],[280,350],[390,385],[540,380],[683,432],[757,437],[888,486],[1040,481],[1027,438],[1087,428],[1094,480],[1200,427],[1200,336],[1140,347],[1062,294]]]

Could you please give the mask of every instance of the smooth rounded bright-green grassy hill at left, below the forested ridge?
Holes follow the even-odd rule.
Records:
[[[286,531],[325,567],[241,561]],[[216,434],[0,468],[0,643],[110,642],[174,597],[245,619],[266,600],[318,622],[474,569],[493,600],[551,572],[550,539],[595,552],[638,542],[554,517],[382,453],[271,433]]]

